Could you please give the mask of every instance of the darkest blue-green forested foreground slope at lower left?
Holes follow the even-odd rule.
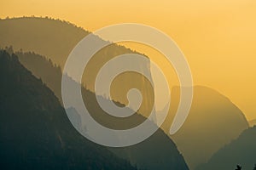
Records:
[[[0,168],[135,170],[84,139],[43,82],[0,51]]]

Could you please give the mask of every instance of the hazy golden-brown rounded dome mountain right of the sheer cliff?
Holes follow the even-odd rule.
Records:
[[[163,124],[166,133],[177,111],[179,88],[173,88],[171,101],[170,113]],[[211,88],[195,86],[188,119],[171,138],[190,169],[195,169],[247,127],[245,116],[230,99]]]

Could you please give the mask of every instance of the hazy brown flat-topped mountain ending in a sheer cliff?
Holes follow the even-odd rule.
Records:
[[[0,20],[0,47],[12,45],[15,51],[33,51],[47,56],[56,65],[63,68],[68,54],[75,45],[90,32],[71,23],[49,18],[23,17]],[[95,37],[93,43],[102,42],[100,37]],[[131,49],[116,44],[109,45],[98,51],[84,70],[83,81],[90,90],[94,89],[96,74],[109,59],[119,54],[135,53]],[[127,64],[128,65],[128,64]],[[138,65],[143,72],[150,75],[149,59],[147,63],[132,63]],[[125,65],[120,65],[125,66]],[[143,103],[139,112],[148,116],[154,104],[154,91],[148,80],[137,73],[124,74],[113,83],[112,97],[125,105],[126,90],[131,88],[141,89]]]

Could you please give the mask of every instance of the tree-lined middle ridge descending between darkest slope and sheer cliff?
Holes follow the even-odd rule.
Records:
[[[26,65],[36,77],[40,77],[42,81],[51,88],[55,94],[61,99],[61,71],[60,68],[55,66],[48,59],[43,56],[34,53],[16,53],[22,64]],[[72,80],[71,80],[72,81]],[[76,84],[76,82],[73,82]],[[92,116],[101,122],[106,127],[125,129],[128,127],[134,127],[142,123],[145,118],[140,115],[133,115],[130,118],[119,119],[108,116],[102,111],[100,106],[96,102],[96,96],[89,90],[82,88],[82,94],[84,95],[84,101],[87,109],[94,113]],[[71,92],[72,93],[72,92]],[[108,100],[103,99],[106,102]],[[121,104],[117,104],[121,105]],[[75,111],[70,108],[70,113],[73,113],[75,122],[79,127],[79,116],[75,114]],[[108,148],[113,151],[114,154],[120,156],[131,162],[132,165],[136,165],[145,169],[174,169],[174,170],[187,170],[188,167],[183,160],[183,156],[180,155],[176,145],[171,139],[162,131],[158,130],[149,139],[143,141],[140,144],[136,144],[125,148]]]

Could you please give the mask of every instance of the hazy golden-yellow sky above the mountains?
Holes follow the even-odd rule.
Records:
[[[195,85],[218,90],[248,120],[256,119],[255,0],[1,0],[0,4],[1,18],[50,16],[90,31],[123,22],[154,26],[183,50]]]

